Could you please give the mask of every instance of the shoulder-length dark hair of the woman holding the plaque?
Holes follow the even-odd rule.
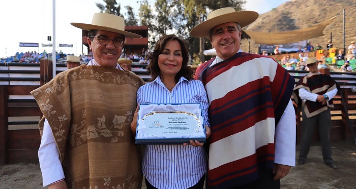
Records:
[[[161,37],[158,42],[156,43],[155,49],[153,52],[150,52],[148,58],[150,59],[150,64],[147,66],[147,71],[151,74],[151,82],[154,81],[158,75],[161,74],[161,70],[158,66],[158,56],[162,53],[163,48],[172,40],[176,40],[178,43],[181,44],[182,49],[182,68],[181,70],[175,75],[175,83],[179,82],[179,79],[183,76],[187,80],[193,79],[193,71],[187,66],[188,64],[188,49],[186,44],[183,40],[179,37],[175,36],[174,34],[165,35]]]

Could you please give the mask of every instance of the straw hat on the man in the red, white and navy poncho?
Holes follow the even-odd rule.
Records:
[[[204,22],[196,25],[190,34],[195,37],[209,37],[209,32],[215,26],[227,23],[237,22],[243,28],[258,18],[258,13],[254,11],[235,11],[234,8],[227,7],[213,11]]]

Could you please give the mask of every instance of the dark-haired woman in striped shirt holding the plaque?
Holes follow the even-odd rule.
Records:
[[[138,103],[199,103],[206,130],[211,134],[207,118],[206,92],[200,81],[193,80],[187,66],[188,49],[183,40],[170,34],[158,40],[148,55],[147,71],[151,82],[137,91]],[[131,128],[135,133],[137,110]],[[206,153],[203,143],[191,140],[185,144],[145,145],[142,172],[150,188],[203,188]]]

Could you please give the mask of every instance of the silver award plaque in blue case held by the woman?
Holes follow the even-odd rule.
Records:
[[[200,104],[140,104],[137,144],[205,142]]]

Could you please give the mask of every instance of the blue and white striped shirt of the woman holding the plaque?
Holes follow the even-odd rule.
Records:
[[[164,86],[160,77],[141,86],[137,91],[139,103],[199,103],[204,124],[207,118],[206,92],[201,81],[180,78],[172,92]],[[206,155],[203,147],[192,145],[146,145],[142,160],[142,172],[157,188],[189,188],[200,180],[206,171]]]

